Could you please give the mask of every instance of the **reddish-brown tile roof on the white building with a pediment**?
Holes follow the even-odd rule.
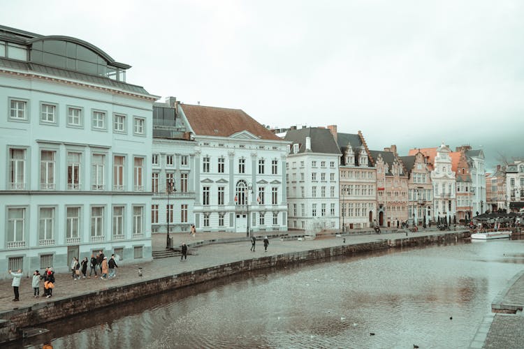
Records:
[[[196,135],[229,137],[248,131],[263,140],[282,140],[240,109],[180,104]]]

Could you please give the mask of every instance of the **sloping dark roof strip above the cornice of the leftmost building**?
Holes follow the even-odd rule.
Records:
[[[123,89],[125,91],[135,92],[137,94],[149,94],[143,87],[128,84],[126,82],[112,80],[108,77],[102,77],[98,75],[89,75],[79,73],[78,71],[65,70],[60,68],[54,68],[50,66],[43,66],[41,64],[34,64],[24,61],[13,61],[11,59],[0,58],[0,67],[14,68],[17,70],[25,70],[27,73],[35,72],[48,75],[54,75],[57,77],[64,77],[66,79],[80,80],[85,82],[91,82],[93,84],[101,84],[107,87],[115,89]]]

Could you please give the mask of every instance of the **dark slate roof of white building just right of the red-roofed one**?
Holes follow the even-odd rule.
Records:
[[[311,151],[313,153],[340,155],[340,149],[328,128],[308,127],[300,128],[298,130],[289,130],[287,131],[284,140],[291,141],[293,144],[300,144],[298,152],[305,153],[306,137],[311,138]],[[292,144],[291,149],[293,149]]]

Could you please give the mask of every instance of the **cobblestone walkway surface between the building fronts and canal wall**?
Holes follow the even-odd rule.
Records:
[[[294,235],[297,232],[279,232],[289,233]],[[269,234],[269,233],[268,233]],[[424,230],[417,233],[409,233],[410,236],[416,235],[437,235],[442,232],[435,230]],[[245,235],[241,235],[245,237]],[[260,234],[259,236],[263,236]],[[361,244],[364,242],[374,242],[381,239],[399,239],[405,237],[405,232],[396,233],[382,233],[381,235],[351,235],[344,236],[345,244]],[[171,234],[174,240],[174,246],[180,246],[182,242],[199,242],[206,239],[228,239],[238,240],[240,237],[235,233],[198,233],[196,237],[190,235]],[[222,240],[221,240],[222,241]],[[165,234],[154,234],[152,238],[153,250],[163,250],[166,246]],[[152,262],[146,262],[140,265],[124,265],[117,268],[117,277],[111,280],[101,279],[80,279],[73,281],[71,274],[56,274],[55,288],[53,290],[53,297],[47,299],[43,295],[43,282],[40,285],[41,297],[33,297],[33,288],[31,288],[31,278],[22,279],[20,284],[20,302],[13,302],[13,288],[11,287],[11,280],[0,281],[0,311],[6,311],[14,308],[22,308],[31,306],[39,302],[46,302],[48,300],[72,297],[76,295],[89,294],[98,290],[105,290],[110,287],[118,285],[127,285],[136,281],[145,279],[157,279],[163,276],[170,276],[180,272],[189,272],[205,267],[212,267],[214,265],[221,265],[228,262],[236,262],[238,260],[246,260],[249,258],[256,258],[265,255],[277,255],[281,253],[289,253],[295,251],[307,251],[315,248],[323,248],[330,246],[340,246],[344,244],[342,237],[319,237],[310,241],[298,241],[297,239],[281,241],[280,239],[270,239],[268,251],[264,252],[261,239],[257,240],[256,252],[249,251],[251,243],[245,242],[231,242],[227,244],[209,244],[195,248],[196,255],[188,255],[187,260],[180,262],[180,258],[160,258]],[[143,277],[138,276],[138,267],[143,268]],[[88,268],[89,274],[89,268]],[[100,275],[100,274],[99,274]]]

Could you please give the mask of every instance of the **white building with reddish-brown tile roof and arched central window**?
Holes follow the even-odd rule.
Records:
[[[197,232],[287,230],[289,142],[242,110],[180,104],[178,113],[196,142]]]

